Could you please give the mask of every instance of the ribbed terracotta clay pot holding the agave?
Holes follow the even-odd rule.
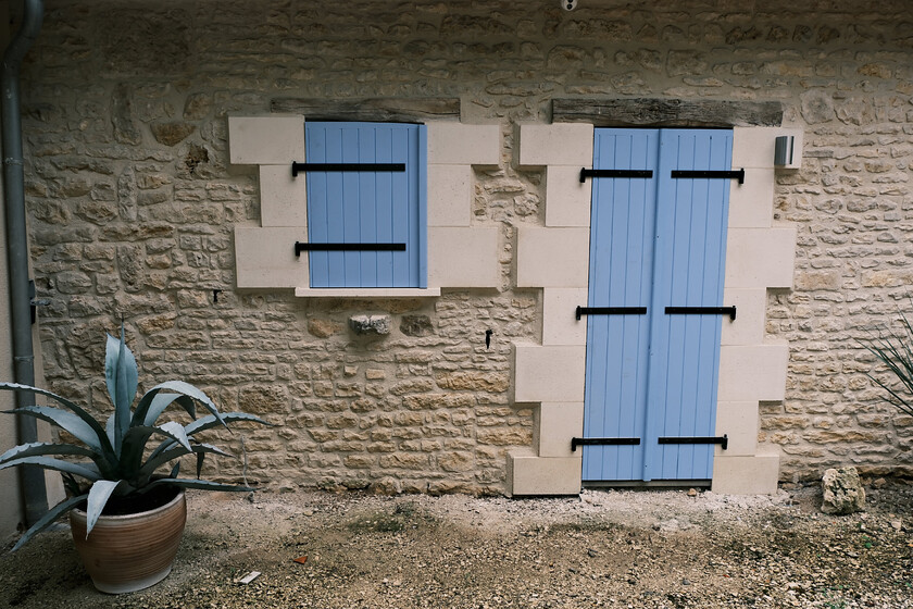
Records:
[[[70,512],[73,543],[95,587],[109,594],[147,588],[172,570],[187,521],[184,490],[160,508],[126,515],[101,515],[88,539],[86,512]]]

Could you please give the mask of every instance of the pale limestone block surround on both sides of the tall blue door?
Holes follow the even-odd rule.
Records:
[[[579,492],[581,451],[571,438],[583,435],[586,318],[570,313],[586,302],[589,269],[591,182],[578,179],[592,165],[593,125],[555,123],[520,126],[518,164],[545,169],[546,222],[521,227],[517,286],[542,289],[542,341],[514,345],[514,399],[536,405],[534,443],[508,456],[508,493],[571,495]],[[783,127],[735,127],[733,167],[745,169],[745,184],[733,181],[724,300],[735,304],[725,318],[720,353],[717,435],[712,488],[716,493],[774,493],[779,456],[758,452],[759,402],[781,401],[788,347],[765,339],[768,289],[792,287],[796,229],[773,221],[774,147],[792,136],[797,169],[802,132]]]

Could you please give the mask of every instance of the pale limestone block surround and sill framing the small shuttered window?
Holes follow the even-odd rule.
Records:
[[[312,289],[308,254],[292,244],[308,238],[307,174],[291,175],[304,162],[304,116],[230,116],[229,159],[258,165],[260,225],[235,226],[239,288],[293,288],[300,297],[434,297],[441,288],[496,288],[499,231],[472,223],[473,167],[500,164],[500,126],[460,122],[427,123],[427,288]]]

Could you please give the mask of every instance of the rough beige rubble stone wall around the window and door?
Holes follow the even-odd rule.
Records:
[[[901,0],[843,4],[50,3],[24,69],[47,377],[105,408],[102,332],[123,314],[145,383],[182,377],[277,423],[240,434],[252,480],[500,493],[508,450],[531,443],[509,345],[541,339],[540,290],[515,287],[517,227],[545,222],[517,123],[549,122],[558,97],[776,100],[805,158],[776,186],[797,274],[768,298],[790,364],[760,439],[783,480],[843,463],[911,474],[913,420],[880,399],[855,339],[913,308],[913,20]],[[289,97],[460,97],[464,122],[499,123],[473,223],[501,232],[501,286],[389,301],[236,289],[233,226],[260,210],[257,176],[228,164],[227,115]],[[392,331],[359,337],[354,314]]]

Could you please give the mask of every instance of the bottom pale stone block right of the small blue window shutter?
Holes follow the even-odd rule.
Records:
[[[428,287],[501,285],[497,226],[428,228]]]

